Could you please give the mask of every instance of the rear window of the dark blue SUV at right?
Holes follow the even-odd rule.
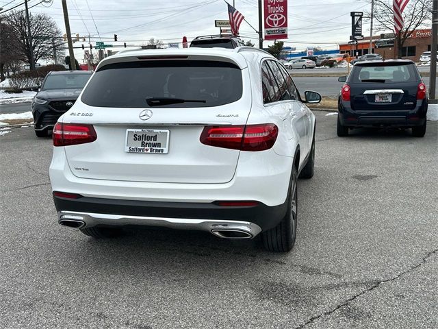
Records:
[[[413,64],[355,66],[351,82],[416,82],[417,73]]]

